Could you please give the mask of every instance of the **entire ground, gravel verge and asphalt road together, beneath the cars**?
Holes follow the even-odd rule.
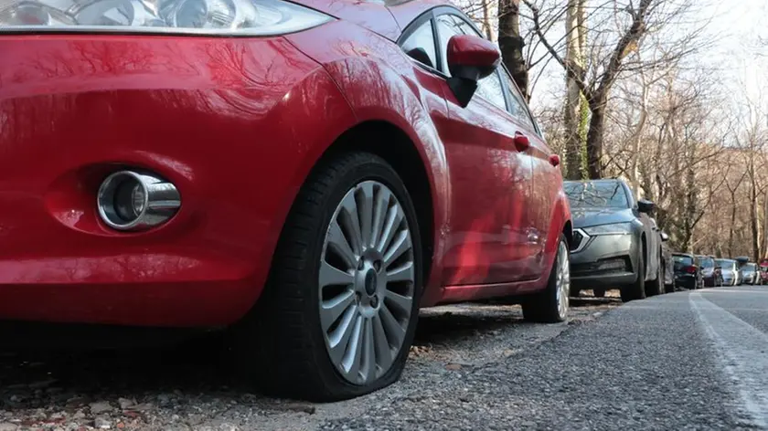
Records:
[[[232,389],[199,351],[6,353],[0,429],[768,429],[768,288],[576,305],[427,310],[400,383],[330,405]]]

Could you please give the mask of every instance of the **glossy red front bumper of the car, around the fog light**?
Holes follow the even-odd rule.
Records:
[[[329,124],[352,121],[281,37],[0,37],[0,52],[0,319],[237,320]],[[96,192],[121,165],[176,184],[179,213],[104,226]]]

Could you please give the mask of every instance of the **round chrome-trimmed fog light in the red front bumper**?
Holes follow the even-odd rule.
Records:
[[[121,171],[101,183],[97,205],[107,226],[141,230],[161,225],[176,215],[181,195],[174,184],[151,173]]]

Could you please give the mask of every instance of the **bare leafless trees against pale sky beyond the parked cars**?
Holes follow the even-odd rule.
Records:
[[[498,41],[565,178],[624,178],[674,249],[768,258],[766,35],[738,36],[709,1],[457,3]]]

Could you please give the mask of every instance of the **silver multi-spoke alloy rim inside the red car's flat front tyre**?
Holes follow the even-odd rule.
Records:
[[[336,207],[320,258],[325,348],[352,384],[389,371],[411,321],[415,269],[400,202],[376,181],[353,187]]]

